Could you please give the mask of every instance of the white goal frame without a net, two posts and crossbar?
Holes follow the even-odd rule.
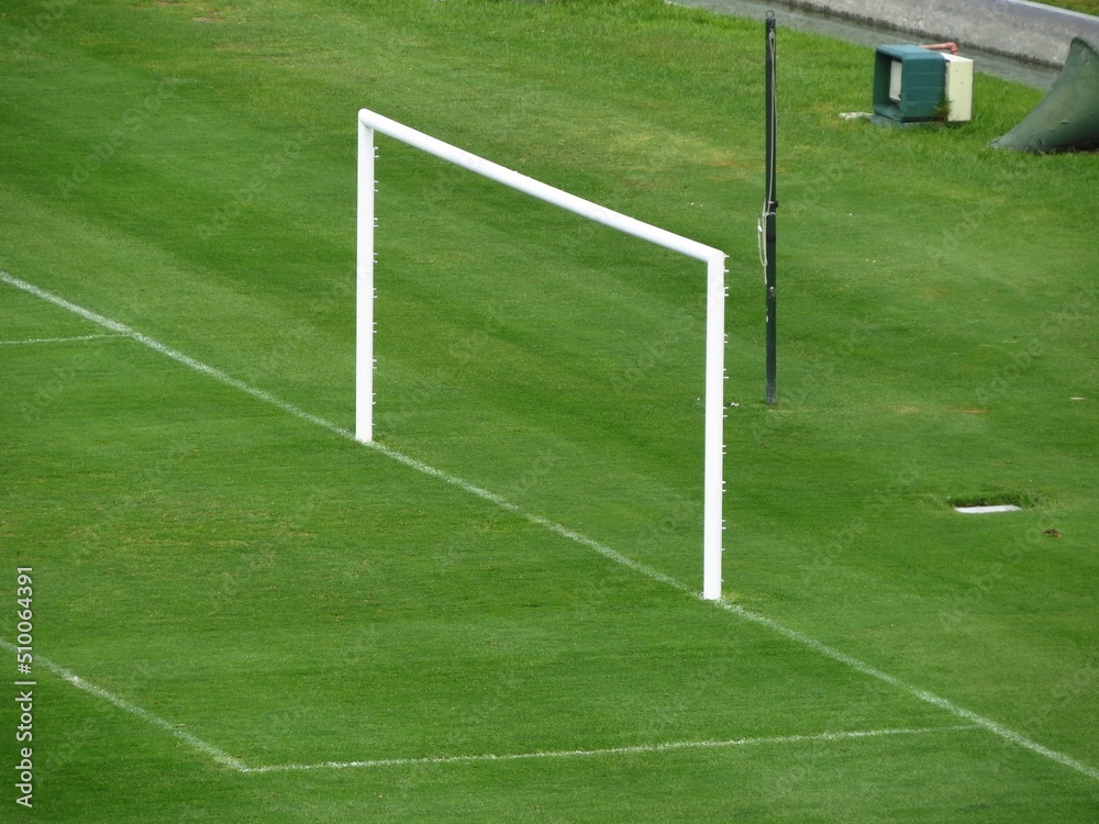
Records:
[[[457,146],[362,109],[358,112],[358,210],[356,249],[355,438],[374,439],[374,133],[509,186],[597,223],[706,264],[706,438],[702,495],[702,598],[721,598],[722,456],[724,454],[725,254],[696,241],[611,211],[499,166]]]

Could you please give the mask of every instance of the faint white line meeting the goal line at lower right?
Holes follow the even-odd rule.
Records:
[[[910,730],[857,730],[815,735],[775,735],[766,738],[729,738],[726,741],[682,741],[665,744],[636,744],[602,749],[551,749],[541,753],[508,753],[504,755],[434,756],[425,758],[377,758],[366,761],[321,761],[319,764],[275,764],[268,767],[248,767],[245,772],[293,772],[306,770],[366,769],[370,767],[423,767],[447,764],[476,764],[478,761],[521,761],[536,758],[593,758],[598,756],[644,755],[677,749],[722,749],[728,747],[766,746],[768,744],[806,744],[817,742],[879,738],[887,735],[926,735],[976,730],[974,725],[936,726]]]

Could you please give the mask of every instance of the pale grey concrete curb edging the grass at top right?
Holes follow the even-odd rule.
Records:
[[[1063,66],[1073,37],[1099,46],[1099,18],[1025,0],[778,0],[780,5],[955,41],[1018,59]]]

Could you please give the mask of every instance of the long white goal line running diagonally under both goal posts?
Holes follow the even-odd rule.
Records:
[[[314,414],[306,412],[304,410],[299,409],[293,404],[287,403],[286,401],[280,400],[279,398],[276,398],[275,396],[268,392],[265,392],[260,389],[255,389],[248,386],[247,383],[244,383],[243,381],[240,381],[236,378],[233,378],[226,375],[225,372],[220,371],[219,369],[214,369],[212,366],[207,366],[206,364],[195,360],[193,358],[188,357],[181,352],[178,352],[177,349],[174,349],[170,346],[166,346],[165,344],[162,344],[158,341],[148,337],[147,335],[143,335],[142,333],[122,323],[119,323],[118,321],[112,321],[110,318],[106,318],[104,315],[92,312],[89,309],[85,309],[82,307],[78,307],[75,303],[70,303],[64,298],[59,298],[51,292],[45,291],[44,289],[40,289],[33,283],[29,283],[25,280],[20,280],[19,278],[12,277],[5,271],[0,271],[0,281],[13,286],[16,289],[21,289],[30,294],[35,296],[36,298],[41,298],[42,300],[48,301],[54,305],[67,309],[68,311],[74,312],[86,320],[92,321],[93,323],[98,323],[101,326],[111,330],[112,332],[130,337],[143,344],[144,346],[148,346],[155,352],[158,352],[162,355],[171,358],[173,360],[176,360],[191,369],[195,369],[196,371],[202,372],[203,375],[208,375],[211,378],[214,378],[215,380],[219,380],[222,383],[225,383],[226,386],[231,386],[234,389],[238,389],[240,391],[245,392],[246,394],[249,394],[253,398],[262,400],[265,403],[270,403],[277,407],[278,409],[281,409],[284,412],[287,412],[288,414],[301,419],[302,421],[307,421],[317,426],[321,426],[322,428],[325,428],[329,432],[332,432],[336,435],[348,438],[351,441],[355,441],[354,433],[352,433],[349,430],[346,430],[342,426],[337,426],[334,423],[325,421],[323,417],[319,417]],[[360,443],[360,442],[355,441],[355,443]],[[419,461],[415,458],[411,458],[402,453],[397,452],[396,449],[390,449],[389,447],[381,446],[380,444],[368,443],[368,444],[363,444],[363,446],[375,449],[381,453],[382,455],[386,455],[387,457],[392,458],[393,460],[397,460],[412,469],[417,469],[433,478],[439,478],[440,480],[451,486],[465,490],[466,492],[475,494],[478,498],[489,501],[490,503],[495,503],[497,506],[500,506],[507,510],[508,512],[511,512],[529,521],[530,523],[543,526],[550,530],[551,532],[560,535],[562,537],[568,538],[578,544],[581,544],[582,546],[593,549],[603,557],[613,560],[617,564],[621,564],[622,566],[625,566],[630,569],[633,569],[634,571],[640,572],[641,575],[644,575],[647,578],[667,584],[668,587],[679,590],[680,592],[687,592],[696,598],[700,598],[699,593],[692,588],[688,587],[686,583],[677,581],[676,579],[663,572],[659,572],[656,569],[653,569],[652,567],[635,561],[632,558],[629,558],[622,555],[621,553],[611,549],[610,547],[603,544],[600,544],[598,541],[587,537],[586,535],[581,535],[578,532],[574,532],[573,530],[569,530],[566,526],[562,526],[560,524],[551,521],[548,519],[542,517],[541,515],[535,515],[533,513],[526,512],[522,508],[511,503],[510,501],[507,501],[506,499],[501,498],[500,495],[493,492],[489,492],[485,489],[481,489],[480,487],[476,487],[460,478],[457,478],[453,475],[448,475],[447,472],[444,472],[440,469],[435,469],[434,467],[431,467],[428,464],[423,464],[422,461]],[[1037,742],[1032,741],[1031,738],[1028,738],[1021,733],[1017,733],[1013,730],[1006,727],[999,722],[992,721],[991,719],[985,717],[984,715],[979,715],[978,713],[975,713],[970,710],[966,710],[965,708],[959,706],[958,704],[955,704],[954,702],[945,698],[942,698],[941,695],[936,695],[933,692],[929,692],[918,687],[913,687],[900,680],[899,678],[889,675],[888,672],[885,672],[869,664],[866,664],[865,661],[859,660],[858,658],[850,656],[846,653],[842,653],[839,649],[835,649],[834,647],[830,647],[826,644],[817,641],[815,638],[812,638],[803,633],[798,632],[797,630],[791,630],[790,627],[787,627],[778,623],[777,621],[773,621],[771,619],[768,619],[765,615],[761,615],[759,613],[746,610],[743,606],[740,606],[739,604],[734,604],[724,600],[712,601],[710,603],[713,603],[713,605],[717,606],[718,609],[724,610],[741,619],[750,621],[759,626],[766,627],[767,630],[770,630],[771,632],[777,633],[788,638],[789,641],[795,642],[796,644],[808,647],[809,649],[820,653],[821,655],[831,658],[834,661],[851,667],[857,672],[877,679],[878,681],[881,681],[884,683],[888,683],[889,686],[895,687],[902,692],[907,692],[908,694],[919,699],[924,703],[931,704],[932,706],[937,706],[939,709],[951,713],[955,717],[958,717],[963,721],[969,722],[972,724],[975,724],[976,726],[987,730],[993,735],[997,735],[1000,738],[1010,742],[1011,744],[1022,747],[1023,749],[1028,749],[1031,753],[1040,755],[1044,758],[1048,758],[1052,761],[1055,761],[1064,767],[1068,767],[1069,769],[1076,770],[1077,772],[1080,772],[1081,775],[1085,775],[1088,778],[1099,781],[1099,769],[1096,769],[1095,767],[1091,767],[1090,765],[1085,764],[1084,761],[1073,758],[1072,756],[1065,755],[1064,753],[1058,753],[1057,750],[1050,749],[1048,747],[1043,746],[1042,744],[1039,744]]]

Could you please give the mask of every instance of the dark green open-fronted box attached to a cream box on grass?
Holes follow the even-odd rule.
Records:
[[[946,57],[921,46],[878,46],[874,113],[898,123],[943,120]]]

